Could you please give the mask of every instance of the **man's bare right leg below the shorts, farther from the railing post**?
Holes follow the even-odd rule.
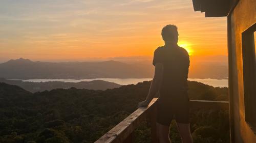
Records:
[[[178,130],[183,143],[193,143],[193,139],[190,133],[189,124],[177,123]]]

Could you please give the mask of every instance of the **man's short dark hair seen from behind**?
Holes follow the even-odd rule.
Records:
[[[176,36],[178,36],[178,28],[176,25],[168,24],[162,29],[162,37],[163,40],[173,40]]]

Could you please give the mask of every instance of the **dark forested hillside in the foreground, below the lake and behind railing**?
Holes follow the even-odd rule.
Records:
[[[190,99],[228,99],[227,88],[189,81]],[[71,88],[30,93],[16,85],[0,83],[0,142],[94,142],[137,108],[150,82],[94,91]],[[229,142],[226,110],[192,110],[191,131],[197,142]],[[170,137],[181,142],[175,122]],[[144,122],[135,131],[136,142],[150,142]]]

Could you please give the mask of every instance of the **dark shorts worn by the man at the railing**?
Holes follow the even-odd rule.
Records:
[[[173,119],[177,123],[189,123],[187,91],[160,92],[157,102],[157,122],[169,126]]]

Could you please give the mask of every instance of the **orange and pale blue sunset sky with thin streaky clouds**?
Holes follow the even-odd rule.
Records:
[[[190,56],[226,62],[226,17],[205,18],[192,0],[1,0],[0,62],[152,59],[166,24]]]

